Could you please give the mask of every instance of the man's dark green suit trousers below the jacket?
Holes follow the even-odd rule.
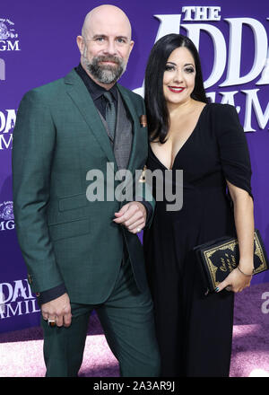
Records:
[[[72,323],[68,328],[48,327],[44,331],[47,377],[74,377],[82,364],[90,315],[95,310],[122,377],[158,377],[160,355],[155,338],[150,291],[138,291],[130,262],[121,265],[113,292],[105,303],[71,303]]]

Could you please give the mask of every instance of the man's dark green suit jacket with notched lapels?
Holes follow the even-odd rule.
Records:
[[[117,88],[133,120],[128,169],[134,174],[148,154],[144,104]],[[141,242],[112,221],[126,202],[107,201],[106,193],[105,201],[86,198],[87,172],[100,170],[106,181],[108,162],[117,171],[106,129],[74,70],[25,94],[13,131],[13,207],[33,292],[65,283],[74,303],[104,302],[116,283],[124,239],[136,284],[145,289]]]

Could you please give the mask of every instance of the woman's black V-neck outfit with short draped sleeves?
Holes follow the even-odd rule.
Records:
[[[168,171],[151,148],[147,168]],[[205,105],[175,158],[174,182],[177,170],[183,170],[182,209],[168,211],[170,202],[157,201],[152,226],[143,233],[161,375],[229,376],[234,294],[204,296],[193,248],[236,235],[226,180],[252,196],[247,140],[234,107]]]

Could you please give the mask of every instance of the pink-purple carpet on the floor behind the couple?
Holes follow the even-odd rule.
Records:
[[[268,301],[269,283],[236,294],[230,377],[269,377]],[[44,376],[42,343],[40,328],[0,334],[0,377]],[[118,377],[117,360],[96,315],[91,317],[80,376]]]

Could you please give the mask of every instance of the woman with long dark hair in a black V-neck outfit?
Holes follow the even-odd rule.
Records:
[[[250,284],[253,199],[247,141],[234,107],[209,103],[195,45],[169,34],[152,48],[145,75],[150,152],[163,178],[183,170],[183,206],[156,201],[144,231],[162,376],[228,376],[234,293]],[[153,188],[153,195],[156,190]],[[170,202],[169,202],[170,203]],[[224,235],[239,239],[239,269],[205,295],[195,246]]]

